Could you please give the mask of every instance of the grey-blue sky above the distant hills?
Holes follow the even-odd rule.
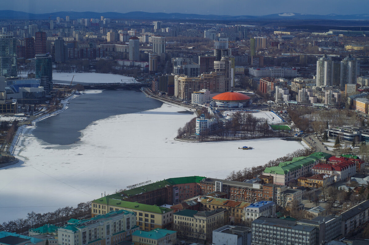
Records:
[[[365,14],[368,0],[3,0],[1,10],[28,13],[130,11],[217,15]]]

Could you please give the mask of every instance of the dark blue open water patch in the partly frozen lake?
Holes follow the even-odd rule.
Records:
[[[79,140],[80,130],[109,116],[159,108],[162,102],[146,98],[144,93],[129,90],[104,90],[69,101],[68,109],[36,124],[32,133],[50,144],[72,144]]]

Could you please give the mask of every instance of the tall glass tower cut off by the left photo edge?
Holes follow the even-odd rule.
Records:
[[[17,44],[11,34],[0,34],[0,76],[17,76]]]

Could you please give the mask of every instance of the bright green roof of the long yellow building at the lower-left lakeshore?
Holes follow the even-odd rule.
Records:
[[[101,197],[99,199],[93,200],[93,203],[106,204],[111,206],[117,206],[121,208],[130,208],[132,210],[141,210],[146,212],[153,212],[157,214],[164,214],[166,212],[172,211],[170,208],[158,207],[156,205],[148,205],[137,202],[128,202],[120,200],[122,198],[120,194],[108,195],[106,197]]]

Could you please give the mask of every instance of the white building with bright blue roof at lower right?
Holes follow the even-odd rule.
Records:
[[[245,220],[263,217],[276,217],[276,204],[273,201],[259,201],[244,208]]]

